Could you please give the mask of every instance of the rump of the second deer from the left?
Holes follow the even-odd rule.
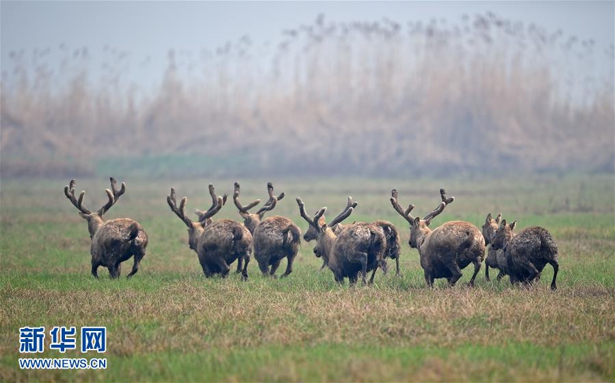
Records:
[[[220,259],[227,265],[235,262],[250,249],[252,235],[239,222],[233,220],[218,220],[206,226],[199,240],[198,261],[205,264],[210,272],[220,273]]]

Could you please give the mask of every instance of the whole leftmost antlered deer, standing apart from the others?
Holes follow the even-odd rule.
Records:
[[[120,196],[126,192],[126,184],[122,182],[118,189],[118,183],[110,177],[111,189],[105,189],[107,203],[98,211],[92,212],[83,205],[86,192],[82,191],[79,197],[75,197],[75,185],[77,181],[70,180],[64,187],[66,198],[79,210],[79,215],[88,221],[90,231],[90,254],[92,254],[92,275],[99,278],[100,266],[109,269],[109,277],[120,277],[120,265],[134,257],[133,268],[127,278],[131,278],[139,271],[141,260],[145,256],[147,247],[147,234],[139,222],[129,218],[116,218],[104,220],[103,215],[118,202]]]

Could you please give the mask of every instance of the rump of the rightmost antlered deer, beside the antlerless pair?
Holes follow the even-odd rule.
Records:
[[[423,241],[421,247],[421,267],[429,270],[433,278],[450,278],[452,272],[447,267],[451,261],[463,269],[485,255],[485,239],[480,230],[463,221],[449,221],[435,228]]]

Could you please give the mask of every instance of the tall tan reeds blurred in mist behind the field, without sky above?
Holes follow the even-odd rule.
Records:
[[[613,47],[495,14],[454,24],[321,15],[272,49],[244,36],[170,51],[153,94],[122,76],[127,53],[109,49],[96,80],[87,49],[59,49],[59,70],[49,49],[3,66],[3,176],[177,156],[162,174],[614,170]],[[588,69],[604,62],[602,75]]]

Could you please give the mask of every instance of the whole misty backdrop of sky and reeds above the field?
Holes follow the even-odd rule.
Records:
[[[614,3],[13,2],[8,176],[614,172]]]

